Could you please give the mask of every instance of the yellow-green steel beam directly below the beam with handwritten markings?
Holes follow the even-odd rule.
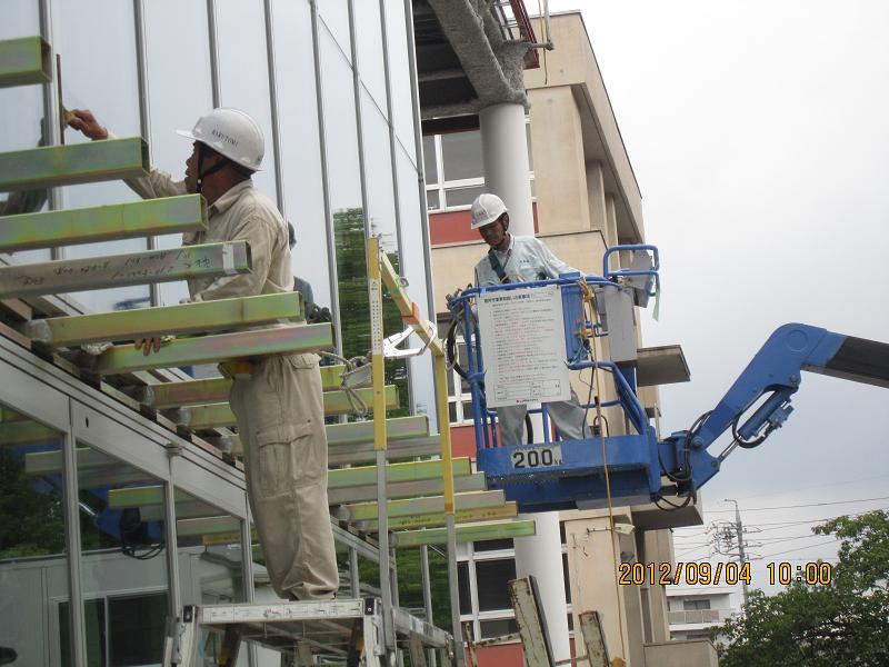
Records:
[[[72,347],[84,342],[133,340],[166,334],[210,334],[302,319],[304,313],[300,293],[281,292],[31,320],[22,331],[33,341],[52,347]]]

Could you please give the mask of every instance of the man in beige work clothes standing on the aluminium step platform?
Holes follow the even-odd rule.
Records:
[[[108,130],[87,110],[70,126],[93,140]],[[183,235],[184,245],[246,240],[251,271],[188,281],[190,300],[291,291],[288,228],[277,207],[257,188],[262,131],[238,109],[213,109],[179,135],[193,140],[184,181],[152,169],[127,183],[143,198],[200,192],[207,231]],[[137,340],[148,355],[158,339]],[[339,587],[327,495],[327,435],[318,356],[264,357],[249,378],[236,377],[230,396],[244,451],[253,521],[276,593],[290,599],[330,599]]]

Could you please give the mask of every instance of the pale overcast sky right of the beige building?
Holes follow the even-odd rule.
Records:
[[[550,2],[578,7],[661,251],[646,344],[681,344],[691,369],[661,388],[663,435],[713,407],[783,322],[889,342],[889,3]],[[763,529],[748,535],[755,586],[766,563],[836,555],[823,536],[778,541],[810,535],[779,521],[889,507],[755,510],[889,497],[889,390],[805,374],[793,405],[703,489],[706,521],[733,517],[735,498]],[[708,555],[701,532],[677,531],[677,560]]]

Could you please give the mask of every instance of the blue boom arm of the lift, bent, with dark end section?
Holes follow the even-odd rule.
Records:
[[[680,495],[701,487],[736,448],[760,445],[790,416],[802,370],[889,387],[889,345],[808,325],[779,327],[722,400],[688,431],[658,444],[663,472]],[[749,418],[745,415],[763,399]],[[719,456],[707,449],[727,430],[732,441]]]

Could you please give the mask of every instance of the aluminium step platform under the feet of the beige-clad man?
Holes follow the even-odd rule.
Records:
[[[443,664],[451,664],[453,639],[443,630],[401,609],[394,609],[393,626],[417,667],[426,663],[423,647],[441,649]],[[304,667],[316,664],[317,656],[348,667],[388,667],[394,663],[394,654],[383,643],[379,598],[189,605],[168,633],[163,667],[204,665],[199,646],[201,629],[222,634],[216,663],[220,667],[237,664],[243,641],[281,651],[282,665]]]

